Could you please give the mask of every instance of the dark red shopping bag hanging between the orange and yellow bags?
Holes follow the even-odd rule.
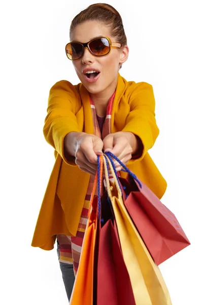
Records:
[[[97,305],[136,305],[120,248],[111,202],[101,200],[97,262]]]

